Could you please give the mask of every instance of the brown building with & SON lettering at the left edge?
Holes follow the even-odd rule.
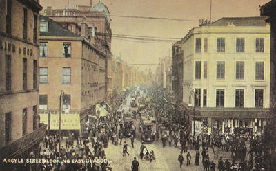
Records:
[[[39,0],[0,1],[0,159],[43,137],[38,111]],[[7,169],[8,170],[8,169]]]

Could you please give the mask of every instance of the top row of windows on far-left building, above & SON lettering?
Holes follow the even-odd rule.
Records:
[[[6,4],[5,11],[6,11],[6,34],[12,34],[12,0],[6,0],[4,2]],[[22,38],[24,40],[28,40],[28,10],[26,8],[22,8],[23,15],[22,15]],[[33,42],[37,43],[37,14],[33,14]]]

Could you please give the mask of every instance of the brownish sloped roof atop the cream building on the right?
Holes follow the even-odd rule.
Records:
[[[252,16],[252,17],[223,17],[213,23],[210,26],[228,26],[229,23],[233,23],[235,26],[266,26],[265,20],[267,16]]]

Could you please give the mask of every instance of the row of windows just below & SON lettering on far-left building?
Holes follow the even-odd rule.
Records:
[[[5,58],[5,80],[6,80],[6,91],[12,90],[12,57],[10,55],[6,55]],[[23,58],[23,69],[22,69],[22,89],[27,89],[27,58]],[[33,60],[33,89],[37,89],[37,60]]]

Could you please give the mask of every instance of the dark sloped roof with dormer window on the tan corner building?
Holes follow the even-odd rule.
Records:
[[[39,16],[39,23],[46,21],[48,23],[48,32],[39,32],[39,36],[63,36],[63,37],[79,37],[77,34],[62,27],[59,23],[49,19],[48,16]]]

